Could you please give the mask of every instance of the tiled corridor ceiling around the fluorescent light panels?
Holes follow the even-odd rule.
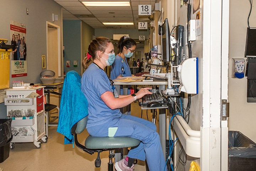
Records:
[[[129,1],[129,7],[86,7],[82,1],[106,0],[54,0],[63,7],[63,20],[82,20],[93,28],[129,28],[138,29],[138,21],[148,20],[147,16],[138,16],[138,5],[151,5],[154,10],[155,0],[109,0]],[[114,14],[110,14],[114,12]],[[84,16],[82,16],[84,15]],[[133,22],[128,26],[105,26],[102,22]]]

